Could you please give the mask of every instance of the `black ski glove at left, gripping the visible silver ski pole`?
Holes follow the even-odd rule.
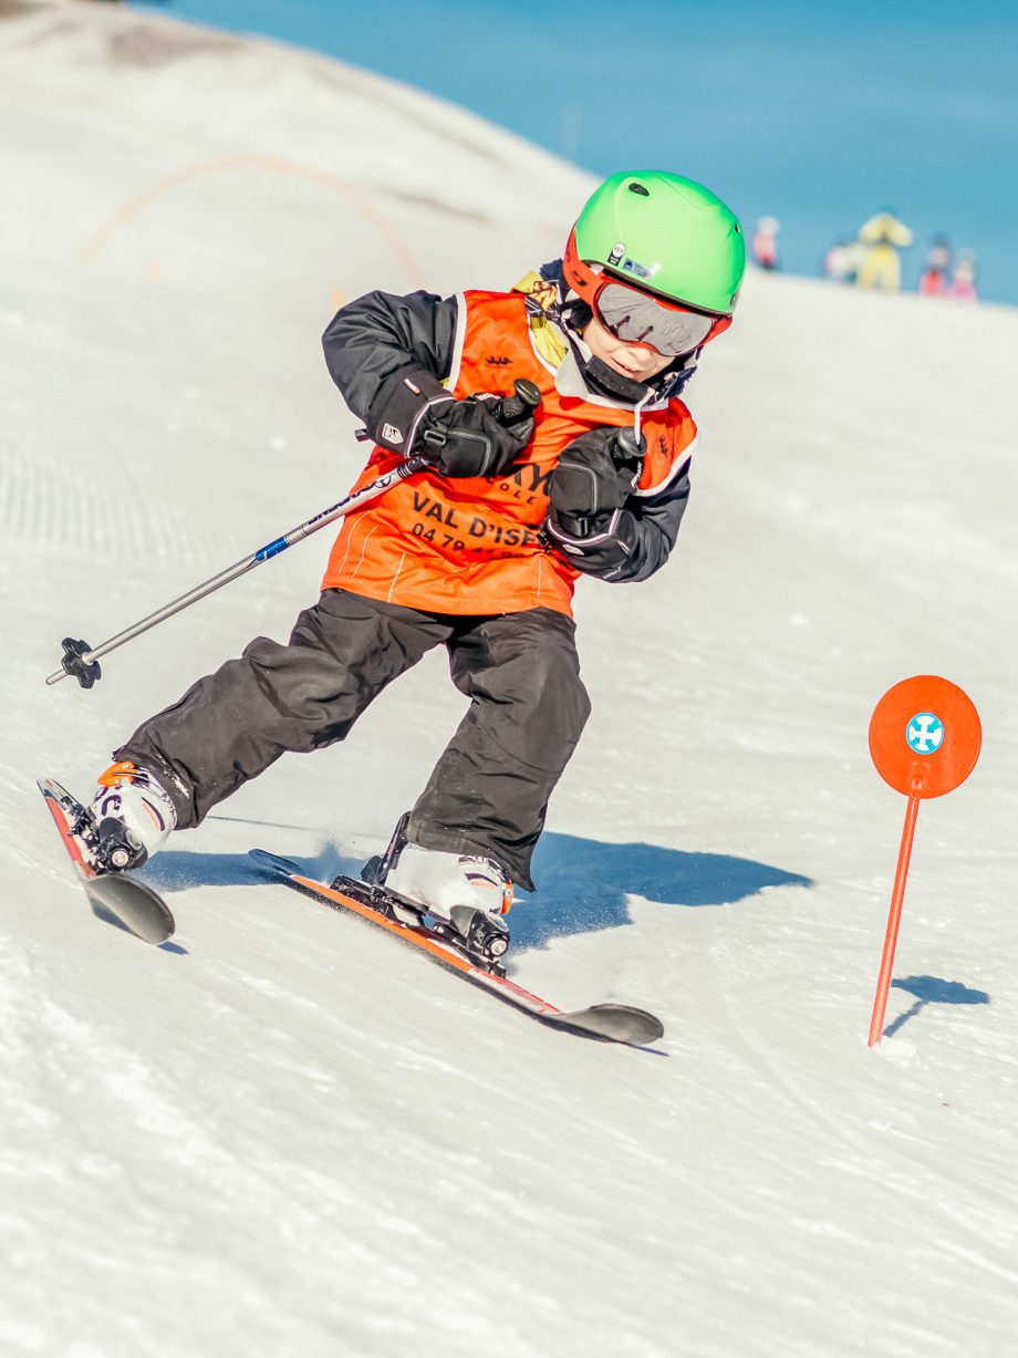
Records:
[[[506,417],[499,397],[457,401],[422,368],[404,368],[381,384],[366,425],[375,443],[404,458],[419,454],[442,477],[501,475],[533,437],[529,407]]]

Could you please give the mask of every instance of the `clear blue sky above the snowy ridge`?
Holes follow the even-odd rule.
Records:
[[[315,48],[418,86],[595,174],[675,170],[782,266],[890,206],[926,247],[976,251],[988,300],[1018,304],[1018,5],[1003,0],[136,0]],[[436,174],[441,172],[436,167]]]

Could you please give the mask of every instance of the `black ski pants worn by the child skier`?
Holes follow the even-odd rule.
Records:
[[[460,617],[327,589],[286,645],[257,637],[138,727],[114,758],[162,769],[178,828],[190,828],[286,751],[343,740],[368,703],[440,644],[470,708],[407,835],[494,858],[532,891],[548,797],[590,712],[576,623],[550,608]]]

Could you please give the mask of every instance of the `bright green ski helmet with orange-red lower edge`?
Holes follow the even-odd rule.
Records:
[[[562,262],[570,288],[592,307],[605,281],[618,278],[672,306],[717,316],[707,335],[713,340],[732,325],[745,238],[734,212],[702,183],[658,170],[633,171],[614,174],[588,200]]]

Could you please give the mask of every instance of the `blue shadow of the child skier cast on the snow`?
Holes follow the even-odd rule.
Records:
[[[288,857],[292,857],[288,854]],[[324,845],[316,856],[295,858],[308,877],[331,881],[338,873],[360,876],[365,856],[346,857]],[[164,850],[145,869],[157,891],[195,885],[261,884],[266,877],[246,854]],[[550,938],[616,929],[630,922],[627,895],[665,906],[728,906],[766,887],[810,887],[801,873],[753,858],[692,853],[646,843],[601,843],[547,832],[535,854],[539,888],[524,895],[509,925],[513,949],[540,948]]]

